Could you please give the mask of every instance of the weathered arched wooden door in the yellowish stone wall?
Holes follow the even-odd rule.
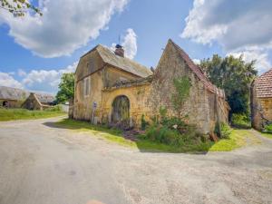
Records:
[[[127,96],[117,96],[112,102],[112,122],[116,124],[130,124],[130,100]]]

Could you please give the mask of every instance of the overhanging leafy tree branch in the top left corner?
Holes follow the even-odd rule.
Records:
[[[15,16],[24,16],[27,9],[35,14],[43,15],[41,10],[27,0],[0,0],[0,8],[5,9]]]

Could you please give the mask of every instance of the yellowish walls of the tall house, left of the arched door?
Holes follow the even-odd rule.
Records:
[[[87,56],[85,56],[87,57]],[[89,57],[88,57],[89,59]],[[81,59],[82,61],[82,59]],[[97,63],[100,62],[99,57],[96,59]],[[112,86],[121,80],[138,79],[132,73],[127,73],[122,70],[116,69],[108,64],[102,65],[102,69],[96,69],[94,73],[85,72],[83,66],[86,68],[86,60],[84,63],[80,62],[77,72],[75,74],[75,93],[73,104],[73,118],[76,120],[91,121],[92,120],[92,104],[97,104],[96,109],[93,112],[93,116],[96,117],[98,122],[102,122],[103,110],[102,101],[105,98],[102,90],[105,87]],[[85,65],[84,65],[85,64]],[[100,64],[100,63],[98,63]],[[90,94],[84,96],[83,81],[87,77],[90,78]],[[112,93],[113,94],[113,93]]]

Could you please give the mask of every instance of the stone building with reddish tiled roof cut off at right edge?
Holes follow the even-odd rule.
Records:
[[[257,77],[251,85],[251,121],[257,130],[272,121],[272,69]]]

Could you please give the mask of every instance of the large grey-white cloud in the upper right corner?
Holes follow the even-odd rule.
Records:
[[[245,53],[247,60],[257,59],[262,72],[271,65],[271,7],[271,0],[194,0],[180,36],[199,44],[217,42],[227,53]]]

